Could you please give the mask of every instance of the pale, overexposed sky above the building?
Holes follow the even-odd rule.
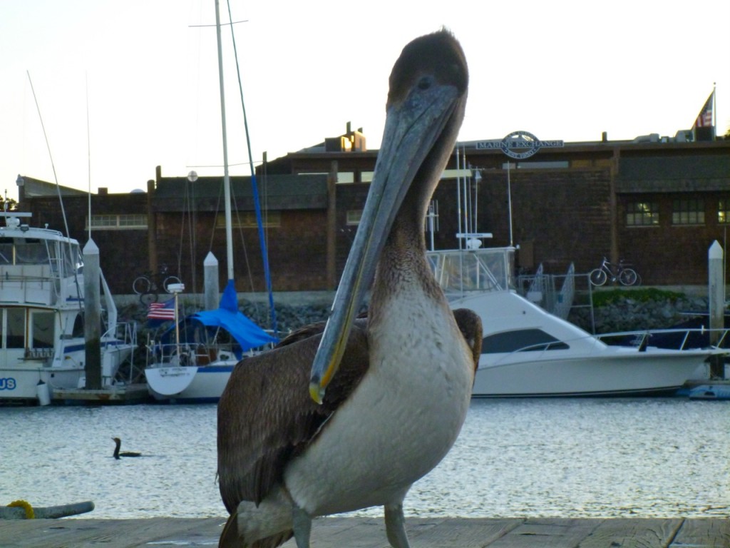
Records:
[[[690,129],[716,84],[730,127],[727,0],[231,0],[223,26],[228,162],[254,164],[363,128],[376,149],[388,75],[449,28],[469,63],[459,140],[527,131],[595,141]],[[220,17],[228,22],[228,4]],[[222,175],[215,0],[0,0],[0,191],[19,174],[126,193]],[[45,135],[44,135],[45,128]],[[55,169],[54,169],[55,168]]]

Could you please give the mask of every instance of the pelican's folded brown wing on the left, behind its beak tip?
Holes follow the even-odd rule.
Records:
[[[318,433],[368,368],[366,321],[358,320],[322,405],[310,397],[310,369],[323,324],[272,351],[242,360],[218,403],[218,476],[228,512],[260,503],[286,463]]]

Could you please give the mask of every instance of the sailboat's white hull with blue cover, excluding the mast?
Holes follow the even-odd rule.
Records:
[[[236,364],[275,342],[238,311],[236,290],[228,283],[220,308],[192,314],[150,343],[147,387],[159,401],[217,402]]]

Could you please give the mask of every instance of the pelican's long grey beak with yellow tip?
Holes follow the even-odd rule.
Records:
[[[424,85],[426,82],[428,85]],[[459,100],[455,86],[439,84],[431,77],[413,82],[406,91],[404,97],[391,96],[389,100],[383,144],[358,232],[312,363],[310,395],[317,403],[322,403],[345,353],[350,328],[372,283],[393,219]]]

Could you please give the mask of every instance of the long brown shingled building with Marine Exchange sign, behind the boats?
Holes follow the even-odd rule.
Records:
[[[499,148],[477,149],[476,142],[460,143],[459,151],[458,164],[468,170],[454,178],[455,154],[434,195],[437,249],[458,246],[456,233],[467,231],[459,224],[460,209],[462,218],[469,210],[476,221],[470,228],[493,234],[485,245],[507,246],[511,240],[519,246],[526,270],[542,263],[546,272],[562,274],[572,262],[577,273],[587,273],[607,256],[634,263],[645,284],[702,285],[707,249],[714,240],[724,246],[730,226],[729,140],[565,143],[518,160]],[[275,292],[334,289],[376,158],[361,132],[348,128],[322,145],[258,167]],[[237,288],[260,292],[265,284],[250,178],[231,178],[231,186]],[[88,196],[68,194],[69,232],[83,243]],[[55,187],[26,178],[19,201],[21,209],[34,213],[34,223],[64,229]],[[91,197],[91,211],[92,236],[112,292],[131,292],[136,275],[161,265],[199,292],[209,251],[218,258],[221,278],[226,276],[222,177],[191,182],[165,177],[158,167],[146,192],[100,189]]]

